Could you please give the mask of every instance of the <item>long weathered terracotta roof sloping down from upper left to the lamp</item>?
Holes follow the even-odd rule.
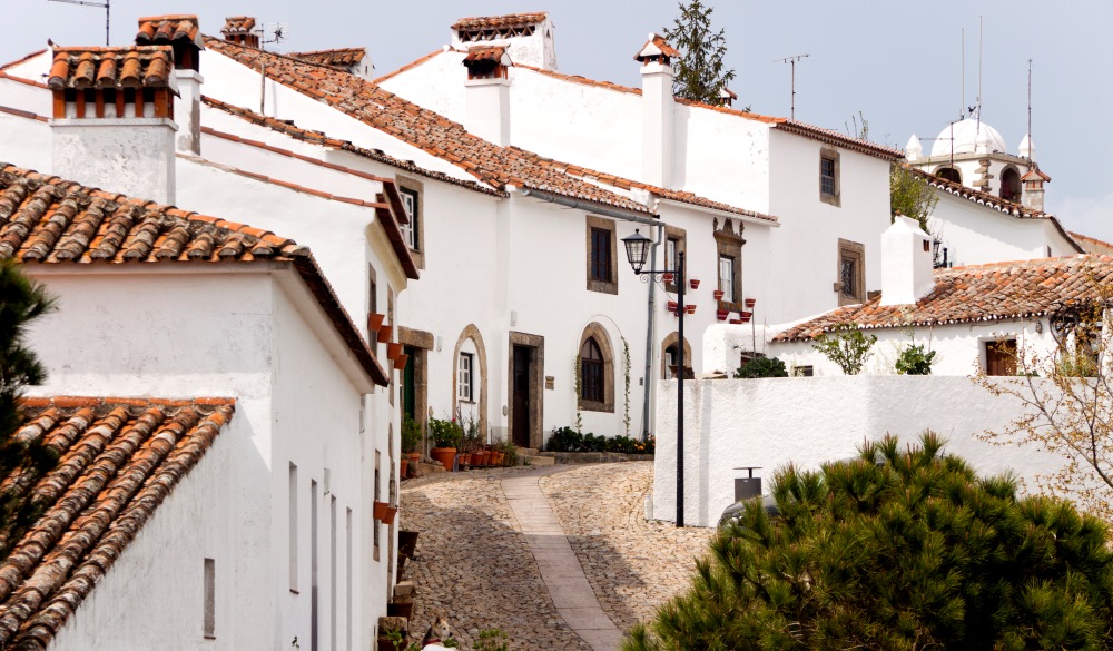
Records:
[[[569,177],[558,171],[558,166],[523,156],[519,149],[499,147],[473,136],[462,125],[353,75],[228,41],[210,38],[207,45],[250,68],[262,68],[266,61],[266,73],[272,79],[433,156],[447,158],[455,154],[461,158],[455,162],[457,167],[496,189],[516,186],[649,213],[637,201]]]

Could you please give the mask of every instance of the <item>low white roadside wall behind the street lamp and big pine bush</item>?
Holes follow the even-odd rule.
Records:
[[[1015,381],[1013,381],[1015,382]],[[674,521],[677,383],[658,393],[653,514]],[[1035,447],[992,446],[976,438],[1020,413],[1017,402],[977,388],[968,377],[854,376],[702,379],[684,383],[684,523],[713,526],[735,501],[739,466],[774,472],[794,463],[818,470],[854,456],[864,440],[886,433],[914,442],[924,430],[947,441],[981,474],[1014,471],[1030,481],[1062,461]]]

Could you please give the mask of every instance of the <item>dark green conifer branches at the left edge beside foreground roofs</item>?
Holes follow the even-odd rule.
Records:
[[[22,274],[18,263],[0,259],[0,558],[38,517],[42,505],[28,499],[28,491],[57,460],[57,452],[40,438],[16,437],[22,424],[23,387],[47,377],[26,345],[27,326],[52,308],[53,300]]]

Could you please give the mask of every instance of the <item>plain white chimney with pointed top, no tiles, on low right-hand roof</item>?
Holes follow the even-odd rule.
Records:
[[[881,234],[881,305],[912,305],[932,293],[932,237],[897,215]]]

